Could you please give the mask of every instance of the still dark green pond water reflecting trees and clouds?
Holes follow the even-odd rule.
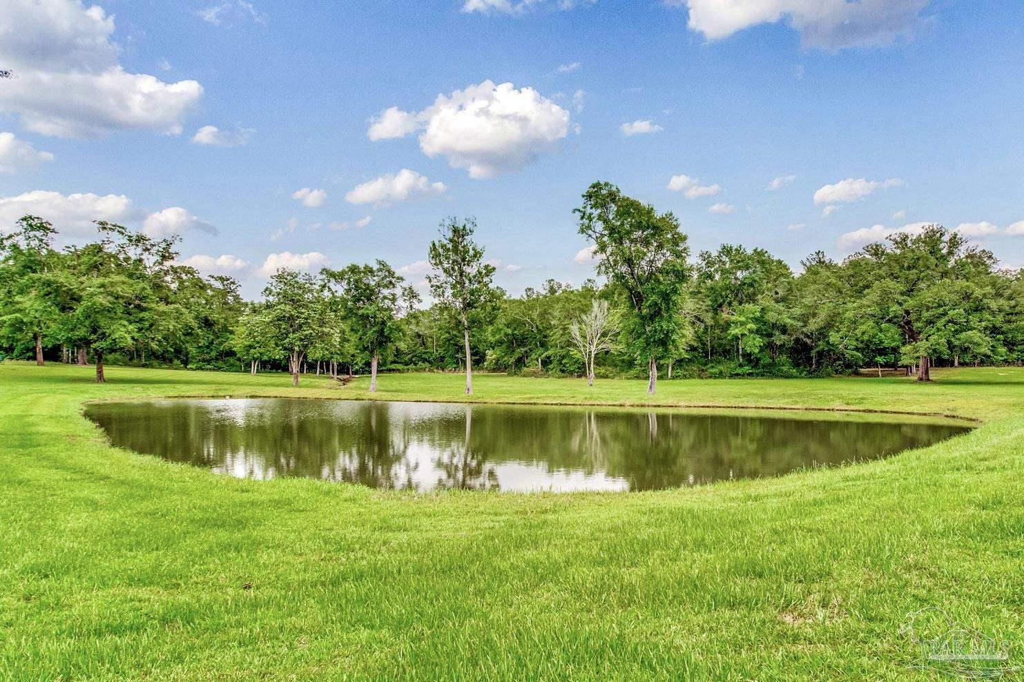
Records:
[[[380,488],[651,491],[870,460],[969,430],[812,413],[296,398],[94,403],[114,444],[232,476]]]

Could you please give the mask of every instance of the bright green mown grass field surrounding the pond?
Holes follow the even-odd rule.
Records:
[[[637,494],[382,493],[111,447],[83,401],[366,398],[283,375],[0,365],[0,679],[931,679],[939,606],[1024,665],[1024,370],[663,382],[660,406],[958,415],[934,446]],[[378,399],[460,400],[456,375]],[[643,381],[476,378],[479,401],[648,404]]]

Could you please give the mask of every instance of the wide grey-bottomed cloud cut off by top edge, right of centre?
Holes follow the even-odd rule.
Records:
[[[689,8],[689,28],[709,40],[788,20],[808,47],[888,45],[909,35],[929,0],[665,0]]]

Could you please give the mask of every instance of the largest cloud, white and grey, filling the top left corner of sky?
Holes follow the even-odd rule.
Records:
[[[114,18],[80,0],[7,0],[0,11],[0,63],[17,78],[0,88],[0,113],[29,130],[91,137],[115,130],[178,134],[199,101],[196,81],[130,74],[111,41]]]

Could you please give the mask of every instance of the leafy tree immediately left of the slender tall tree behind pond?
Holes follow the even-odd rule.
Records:
[[[370,355],[370,392],[374,393],[381,355],[390,355],[401,338],[398,318],[419,296],[412,288],[403,288],[404,280],[383,260],[376,265],[352,263],[340,270],[325,269],[322,274],[339,294],[342,314]]]

